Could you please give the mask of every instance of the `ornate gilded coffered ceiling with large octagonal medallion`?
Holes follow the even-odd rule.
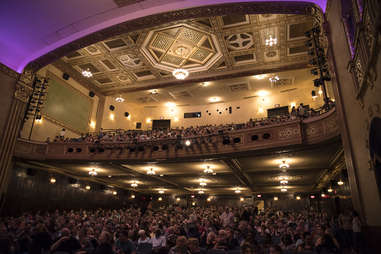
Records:
[[[104,94],[175,82],[175,68],[189,70],[189,80],[272,72],[307,65],[304,32],[312,23],[311,16],[279,14],[172,22],[95,43],[60,62],[78,72],[89,69],[90,81]],[[270,35],[278,41],[272,47],[265,45]]]

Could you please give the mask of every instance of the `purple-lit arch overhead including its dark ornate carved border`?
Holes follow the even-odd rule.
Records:
[[[36,70],[84,46],[152,25],[231,13],[313,14],[316,10],[324,12],[327,0],[164,2],[6,1],[6,8],[0,12],[0,21],[8,24],[0,30],[0,62],[21,73],[28,64]]]

